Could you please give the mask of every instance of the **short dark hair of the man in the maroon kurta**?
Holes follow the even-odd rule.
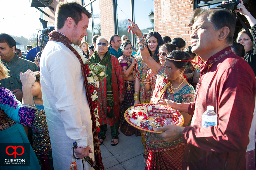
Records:
[[[224,8],[196,8],[192,14],[190,23],[194,24],[198,17],[206,15],[208,22],[214,25],[214,30],[217,31],[224,26],[229,27],[229,34],[226,37],[226,42],[232,44],[236,26],[236,15]]]

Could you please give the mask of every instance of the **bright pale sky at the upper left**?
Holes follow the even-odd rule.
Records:
[[[29,0],[0,0],[0,33],[29,38],[38,32],[40,12]]]

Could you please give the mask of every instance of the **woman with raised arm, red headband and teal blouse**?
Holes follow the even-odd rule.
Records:
[[[130,21],[130,20],[129,20]],[[159,65],[150,56],[143,33],[137,24],[130,21],[129,31],[137,35],[138,45],[143,61],[157,75],[151,103],[157,103],[160,98],[175,102],[191,102],[194,100],[194,88],[184,79],[185,70],[191,67],[190,54],[175,50],[165,57],[164,65]],[[161,54],[162,55],[162,54]],[[150,80],[144,82],[150,83]],[[187,126],[191,116],[188,113],[181,114],[184,117],[183,126]],[[186,144],[182,138],[167,143],[158,137],[156,133],[145,132],[148,149],[150,150],[145,170],[182,169],[182,158]]]

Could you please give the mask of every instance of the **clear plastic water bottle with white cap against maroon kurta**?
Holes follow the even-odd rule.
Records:
[[[203,113],[202,116],[202,127],[210,127],[217,125],[217,114],[214,111],[213,106],[207,106],[207,110]]]

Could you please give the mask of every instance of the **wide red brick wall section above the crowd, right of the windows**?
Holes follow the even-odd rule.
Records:
[[[193,13],[192,0],[154,0],[155,31],[171,39],[180,37],[191,44],[189,21]]]

